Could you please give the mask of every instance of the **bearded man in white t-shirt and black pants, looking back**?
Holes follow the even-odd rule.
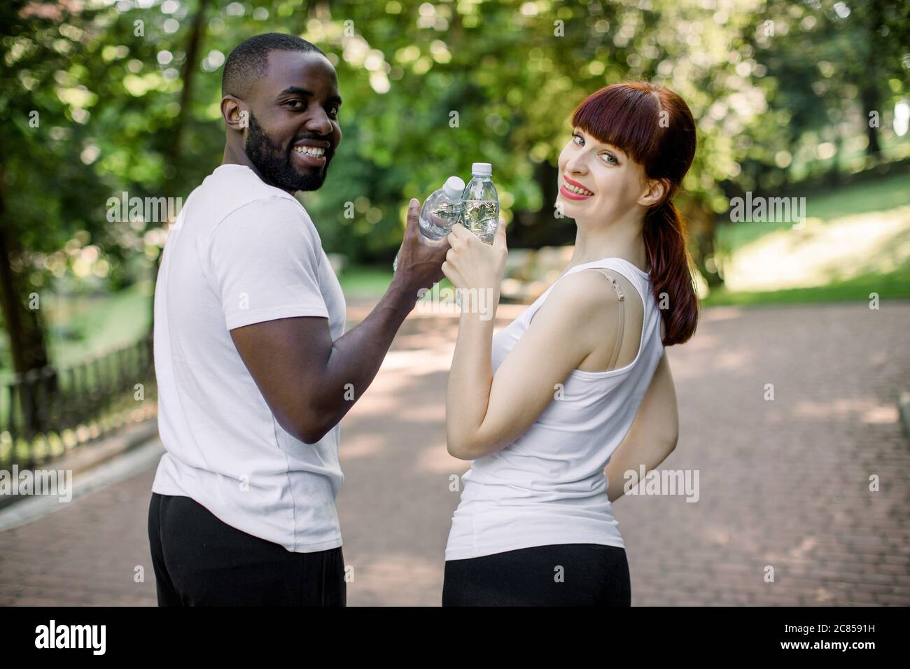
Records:
[[[224,159],[170,231],[155,294],[159,605],[345,604],[339,421],[449,245],[421,243],[412,199],[388,291],[344,333],[338,279],[293,197],[325,181],[340,105],[303,39],[258,35],[227,58]]]

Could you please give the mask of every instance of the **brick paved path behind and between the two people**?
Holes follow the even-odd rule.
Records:
[[[455,325],[409,319],[342,423],[351,605],[440,602],[450,476],[466,469],[442,422]],[[615,504],[632,602],[910,604],[910,450],[895,408],[908,331],[910,302],[707,310],[670,350],[682,437],[664,463],[698,470],[700,499]],[[0,605],[155,603],[152,475],[0,532]]]

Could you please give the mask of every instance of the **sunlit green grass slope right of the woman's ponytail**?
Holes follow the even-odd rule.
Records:
[[[868,301],[870,293],[910,298],[910,174],[804,197],[804,229],[788,223],[718,228],[725,285],[703,296],[704,304]]]

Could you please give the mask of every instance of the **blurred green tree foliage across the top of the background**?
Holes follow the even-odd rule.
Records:
[[[338,71],[343,140],[325,186],[301,198],[325,248],[353,263],[387,267],[408,200],[452,174],[468,177],[474,161],[493,164],[503,215],[519,223],[514,244],[571,242],[571,221],[553,217],[571,112],[622,80],[671,87],[698,120],[681,205],[701,260],[713,255],[714,218],[733,192],[863,167],[856,157],[873,135],[876,160],[910,154],[890,129],[890,110],[907,96],[906,3],[139,5],[0,7],[0,225],[21,247],[13,269],[35,289],[147,278],[164,235],[155,222],[109,222],[107,199],[186,198],[217,167],[221,65],[243,39],[269,31],[309,39]],[[187,62],[196,25],[200,48]],[[870,104],[881,111],[873,134]]]

